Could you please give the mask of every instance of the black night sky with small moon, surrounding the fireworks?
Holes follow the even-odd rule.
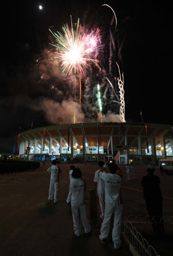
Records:
[[[121,69],[125,78],[126,121],[141,122],[142,111],[146,123],[173,124],[172,3],[123,0],[7,2],[2,8],[6,18],[1,18],[1,153],[12,152],[20,127],[22,132],[31,129],[32,121],[32,128],[55,124],[49,116],[57,115],[56,102],[61,105],[64,98],[73,95],[70,85],[59,78],[60,71],[55,74],[47,62],[46,52],[51,49],[48,28],[61,31],[64,23],[70,24],[70,14],[74,22],[80,18],[85,27],[99,27],[101,51],[106,56],[109,47],[106,38],[113,13],[110,8],[101,6],[104,3],[114,9],[118,19],[117,33],[119,38],[125,38]],[[43,6],[42,10],[39,5]],[[39,60],[38,65],[36,60]],[[44,79],[38,83],[43,73]],[[45,101],[50,104],[49,110],[44,108]]]

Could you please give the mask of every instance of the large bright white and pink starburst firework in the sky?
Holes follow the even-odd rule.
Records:
[[[99,29],[96,32],[92,31],[89,35],[85,35],[81,32],[81,25],[78,19],[76,31],[74,31],[71,17],[71,29],[66,24],[62,26],[62,30],[63,34],[50,30],[57,42],[52,45],[57,48],[57,57],[55,58],[58,58],[61,62],[62,73],[65,73],[65,76],[70,75],[73,71],[75,74],[84,73],[84,69],[89,67],[90,62],[97,62],[91,57],[91,53],[97,47]]]

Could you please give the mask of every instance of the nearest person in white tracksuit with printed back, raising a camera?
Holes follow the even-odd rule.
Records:
[[[118,166],[115,163],[109,165],[110,173],[100,171],[100,177],[105,183],[105,210],[104,219],[101,224],[99,239],[105,244],[110,231],[111,217],[114,215],[114,227],[112,229],[112,241],[114,248],[121,247],[121,219],[122,219],[122,202],[120,186],[122,182],[122,173],[117,173]]]

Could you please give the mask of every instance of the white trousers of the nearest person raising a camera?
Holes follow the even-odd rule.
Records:
[[[100,229],[100,240],[108,238],[112,214],[114,215],[114,227],[112,229],[112,241],[115,247],[121,246],[121,219],[122,205],[111,205],[106,203],[104,219]]]

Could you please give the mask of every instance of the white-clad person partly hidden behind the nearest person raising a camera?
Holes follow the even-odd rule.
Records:
[[[98,164],[99,164],[100,168],[104,166],[103,161],[99,161]],[[106,170],[103,170],[103,173],[107,173]],[[102,179],[100,179],[100,169],[96,170],[95,177],[94,177],[93,181],[95,181],[97,184],[97,197],[98,197],[98,204],[99,204],[99,212],[100,212],[100,217],[103,218],[105,187],[104,187],[104,181]]]

